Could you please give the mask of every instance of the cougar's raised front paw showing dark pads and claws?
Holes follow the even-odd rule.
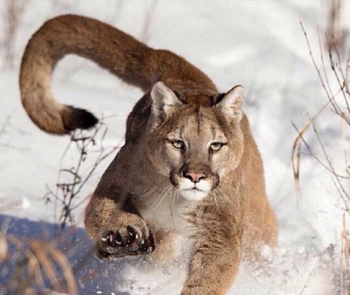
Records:
[[[151,253],[155,248],[152,231],[146,224],[121,225],[108,230],[97,241],[95,252],[101,260]]]

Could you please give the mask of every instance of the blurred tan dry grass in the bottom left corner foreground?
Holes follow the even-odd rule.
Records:
[[[8,221],[3,223],[0,233],[0,265],[8,268],[0,281],[0,295],[78,294],[71,265],[56,247],[56,240],[9,234],[7,225]]]

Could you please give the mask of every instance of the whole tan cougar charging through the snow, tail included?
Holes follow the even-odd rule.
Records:
[[[177,233],[193,245],[181,294],[224,294],[241,254],[253,258],[261,243],[273,246],[277,239],[242,87],[219,94],[205,74],[169,51],[91,18],[60,16],[33,35],[20,71],[23,105],[50,133],[96,123],[51,94],[54,65],[69,53],[146,92],[128,117],[125,145],[86,208],[96,255],[110,260],[156,248],[152,255],[161,256]]]

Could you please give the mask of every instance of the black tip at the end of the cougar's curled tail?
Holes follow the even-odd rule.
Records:
[[[98,119],[85,109],[73,106],[67,106],[67,108],[62,117],[68,132],[75,129],[89,129],[98,123]]]

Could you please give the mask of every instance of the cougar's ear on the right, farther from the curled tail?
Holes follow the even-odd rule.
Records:
[[[224,94],[216,107],[223,112],[228,119],[239,122],[243,116],[244,88],[241,85],[233,87]]]

